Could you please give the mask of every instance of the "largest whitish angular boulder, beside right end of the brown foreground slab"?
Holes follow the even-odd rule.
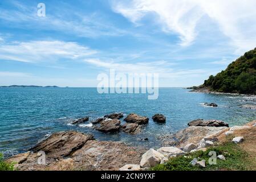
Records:
[[[155,151],[153,148],[149,149],[145,154],[143,154],[140,161],[140,166],[145,167],[155,167],[157,164],[161,163],[164,158],[160,152]]]

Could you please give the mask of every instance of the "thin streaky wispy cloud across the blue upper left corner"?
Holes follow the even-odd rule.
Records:
[[[127,34],[125,30],[114,26],[107,19],[104,19],[104,16],[98,13],[69,12],[67,16],[65,14],[66,9],[59,8],[54,11],[47,11],[46,17],[39,17],[36,7],[26,6],[16,1],[13,4],[15,9],[4,9],[0,7],[0,19],[13,23],[10,26],[62,31],[66,34],[86,38]],[[55,14],[52,12],[55,12]],[[62,16],[59,16],[59,14]]]

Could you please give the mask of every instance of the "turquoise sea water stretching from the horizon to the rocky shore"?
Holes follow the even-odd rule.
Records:
[[[159,98],[148,100],[147,94],[99,94],[96,88],[0,88],[0,152],[6,155],[24,152],[48,134],[63,130],[91,133],[99,140],[156,147],[160,145],[157,135],[184,129],[193,119],[221,119],[234,126],[256,118],[255,110],[239,107],[253,104],[255,98],[188,91],[160,88]],[[214,102],[218,107],[205,107],[204,102]],[[137,135],[104,134],[90,125],[68,125],[76,118],[88,116],[91,121],[115,112],[149,118],[161,113],[166,116],[166,123],[159,125],[150,119]]]

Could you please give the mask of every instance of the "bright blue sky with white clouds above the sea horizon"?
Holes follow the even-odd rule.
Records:
[[[255,7],[255,0],[1,0],[0,85],[94,87],[109,69],[158,73],[161,87],[200,85],[256,47]]]

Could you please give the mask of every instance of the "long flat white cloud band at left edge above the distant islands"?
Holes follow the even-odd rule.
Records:
[[[0,44],[0,59],[38,63],[60,59],[82,59],[96,51],[74,42],[31,41]]]

